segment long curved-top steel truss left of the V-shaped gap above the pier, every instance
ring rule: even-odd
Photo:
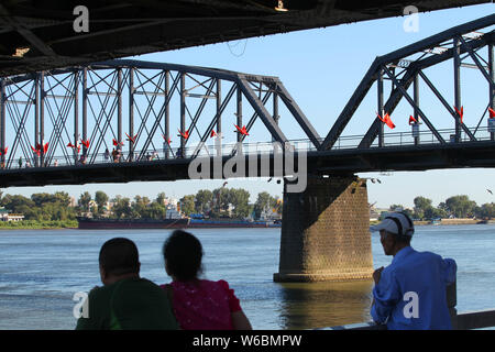
[[[52,166],[56,158],[56,163],[62,158],[64,165],[76,165],[80,155],[86,164],[94,164],[110,141],[118,150],[127,147],[122,160],[127,162],[143,160],[156,150],[163,151],[161,158],[186,157],[191,139],[175,136],[172,122],[179,125],[179,133],[189,131],[207,143],[212,132],[222,133],[222,114],[234,101],[235,124],[245,124],[248,133],[261,120],[273,141],[288,142],[278,125],[282,101],[312,147],[319,148],[321,140],[277,77],[123,59],[8,77],[0,80],[0,147],[9,148],[0,155],[4,168],[18,166],[19,158],[36,167]],[[189,105],[191,98],[200,101],[195,109]],[[212,116],[205,112],[211,99],[216,101]],[[243,101],[253,111],[248,122]],[[170,111],[173,108],[176,110]],[[200,119],[206,128],[199,125]],[[233,124],[229,128],[234,130]],[[8,130],[12,135],[6,135]],[[245,136],[238,133],[237,142],[244,142]],[[176,138],[180,139],[179,155],[169,143]],[[82,143],[87,141],[89,144]],[[166,142],[163,148],[157,141]],[[36,148],[45,144],[46,150]],[[187,156],[199,153],[199,147],[191,148]]]

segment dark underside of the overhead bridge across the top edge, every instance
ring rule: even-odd
[[[491,0],[9,0],[0,77]],[[85,10],[81,9],[85,8]],[[286,11],[284,11],[286,10]],[[86,18],[86,25],[81,20]]]

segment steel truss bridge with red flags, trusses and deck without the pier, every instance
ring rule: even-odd
[[[253,154],[268,155],[265,176],[275,175],[272,142],[296,158],[304,152],[308,173],[316,174],[494,167],[494,24],[495,15],[487,15],[376,57],[323,136],[277,77],[129,59],[3,77],[0,186],[188,179],[196,157],[226,163]],[[444,97],[425,73],[446,62],[452,62],[453,97]],[[463,122],[461,68],[477,70],[486,81],[488,101],[475,125]],[[452,128],[437,129],[425,113],[420,84]],[[364,135],[343,135],[369,95],[376,96],[380,117],[393,117],[407,101],[413,132],[385,133],[392,130],[372,112]],[[282,119],[297,124],[304,139],[283,131],[280,105]],[[268,138],[249,143],[260,141],[260,128]],[[211,146],[216,140],[221,148]],[[106,153],[113,148],[116,163]]]

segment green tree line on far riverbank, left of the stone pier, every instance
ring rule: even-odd
[[[277,197],[263,191],[254,204],[249,202],[250,193],[242,188],[201,189],[196,195],[187,195],[179,199],[178,208],[186,216],[201,213],[211,218],[230,217],[246,218],[254,215],[260,218],[264,209],[274,209],[282,213],[282,201]],[[177,205],[174,205],[177,206]],[[163,219],[166,215],[165,193],[155,199],[135,196],[117,196],[112,199],[101,190],[92,197],[88,191],[80,195],[74,205],[72,197],[64,191],[55,194],[40,193],[31,197],[22,195],[3,195],[0,191],[0,207],[13,213],[22,213],[24,227],[77,227],[77,216],[110,218],[151,218]],[[1,223],[1,222],[0,222]],[[4,227],[19,227],[20,223],[3,223]]]

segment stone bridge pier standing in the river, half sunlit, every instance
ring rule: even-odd
[[[371,278],[373,256],[366,180],[310,177],[302,193],[287,193],[275,282]]]

